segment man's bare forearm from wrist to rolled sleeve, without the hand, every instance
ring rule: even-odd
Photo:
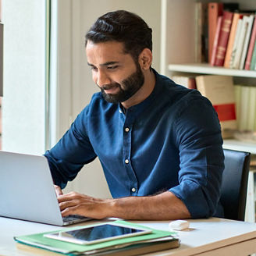
[[[190,218],[183,201],[169,191],[151,197],[117,198],[108,203],[108,217],[155,220]]]

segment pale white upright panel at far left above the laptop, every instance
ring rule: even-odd
[[[2,0],[2,149],[44,152],[45,3]]]

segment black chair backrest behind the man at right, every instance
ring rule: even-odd
[[[224,149],[224,155],[220,197],[224,218],[244,221],[250,153]]]

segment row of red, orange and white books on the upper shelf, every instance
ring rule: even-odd
[[[204,10],[204,22],[208,21],[208,30],[204,29],[204,38],[207,39],[203,42],[204,48],[208,49],[207,62],[229,69],[256,70],[255,12],[242,11],[238,4],[222,2],[197,3],[196,13],[200,15],[198,9]],[[196,16],[196,26],[203,27],[200,20]],[[197,29],[197,37],[200,33],[202,37],[202,30]],[[196,44],[197,48],[201,44]],[[197,49],[197,52],[207,54],[202,49]],[[197,62],[199,59],[197,56]]]

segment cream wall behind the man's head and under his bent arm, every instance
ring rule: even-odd
[[[87,105],[98,87],[91,80],[84,50],[84,35],[105,12],[126,9],[142,16],[153,29],[153,67],[159,70],[160,11],[158,0],[62,0],[58,18],[58,83],[56,140],[69,128],[76,115]],[[55,141],[52,141],[54,144]],[[66,190],[78,190],[95,197],[110,197],[98,161],[84,167]]]

